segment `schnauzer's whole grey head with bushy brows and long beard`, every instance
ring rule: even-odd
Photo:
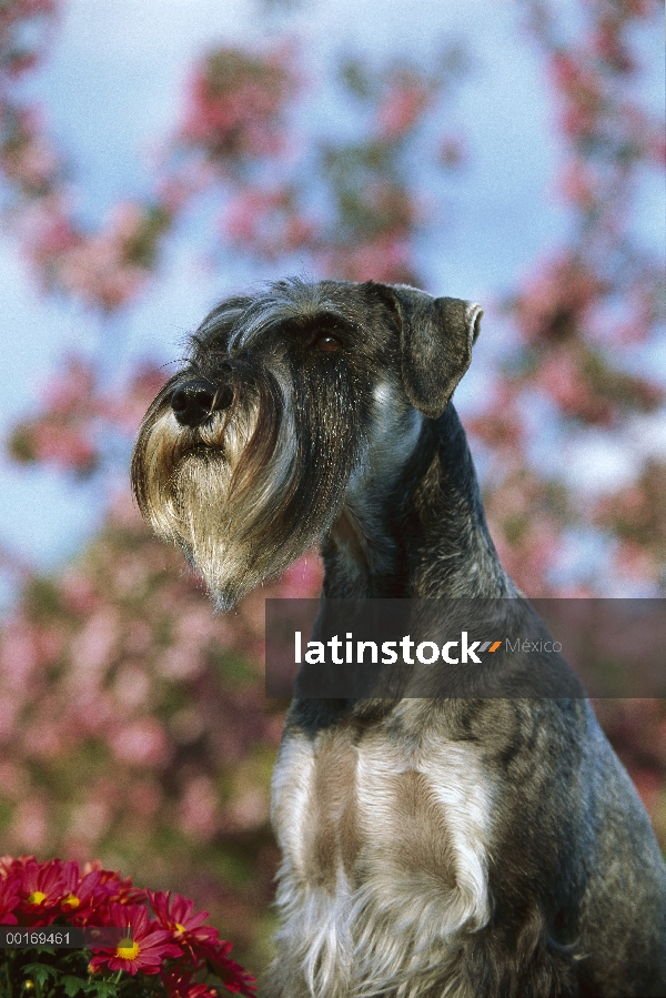
[[[222,302],[143,420],[144,518],[229,608],[325,534],[345,493],[397,473],[465,373],[480,315],[373,282]]]

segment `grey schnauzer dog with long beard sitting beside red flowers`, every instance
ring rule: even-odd
[[[315,541],[322,607],[525,602],[451,403],[480,317],[372,281],[223,302],[144,419],[143,516],[223,609]],[[272,820],[268,998],[666,995],[666,870],[583,696],[296,697]]]

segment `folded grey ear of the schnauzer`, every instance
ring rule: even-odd
[[[483,311],[457,298],[432,298],[406,284],[385,285],[401,323],[402,375],[412,405],[442,415],[470,366]]]

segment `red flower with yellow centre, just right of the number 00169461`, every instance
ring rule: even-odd
[[[139,970],[159,974],[164,959],[182,956],[181,949],[170,941],[172,934],[155,928],[155,923],[150,921],[148,911],[140,905],[110,905],[107,925],[130,926],[132,938],[122,940],[127,945],[121,942],[112,954],[94,956],[90,961],[92,971],[107,966],[110,970],[125,970],[132,976]]]

